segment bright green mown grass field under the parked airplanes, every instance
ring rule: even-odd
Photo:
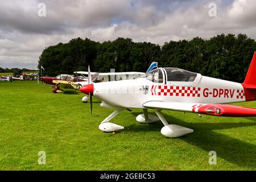
[[[256,118],[226,118],[164,111],[169,123],[194,133],[163,137],[161,122],[143,125],[142,111],[123,111],[112,122],[125,127],[103,133],[113,110],[94,98],[93,117],[82,93],[53,94],[36,81],[0,82],[1,170],[255,170]],[[256,107],[256,102],[237,105]],[[150,113],[153,114],[152,110]],[[209,151],[217,164],[208,163]],[[46,151],[46,165],[38,152]]]

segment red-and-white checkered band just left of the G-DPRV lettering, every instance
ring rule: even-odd
[[[200,97],[200,90],[200,87],[193,86],[153,85],[151,94],[153,96]]]

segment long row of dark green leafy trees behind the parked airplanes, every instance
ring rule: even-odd
[[[171,40],[162,47],[129,38],[103,43],[76,38],[45,48],[38,68],[42,65],[44,75],[48,76],[87,71],[88,65],[93,72],[110,72],[110,68],[115,68],[115,72],[146,72],[151,62],[157,61],[159,67],[182,68],[204,76],[243,82],[254,51],[255,40],[245,34]]]

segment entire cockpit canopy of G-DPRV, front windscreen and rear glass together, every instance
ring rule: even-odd
[[[162,83],[164,78],[166,81],[180,81],[180,82],[193,82],[195,81],[197,73],[189,72],[179,68],[157,68],[142,75],[139,78],[146,78],[152,82]]]

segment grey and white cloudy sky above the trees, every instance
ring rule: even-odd
[[[0,0],[0,5],[2,68],[36,68],[45,47],[79,36],[160,45],[221,33],[256,39],[255,0]]]

